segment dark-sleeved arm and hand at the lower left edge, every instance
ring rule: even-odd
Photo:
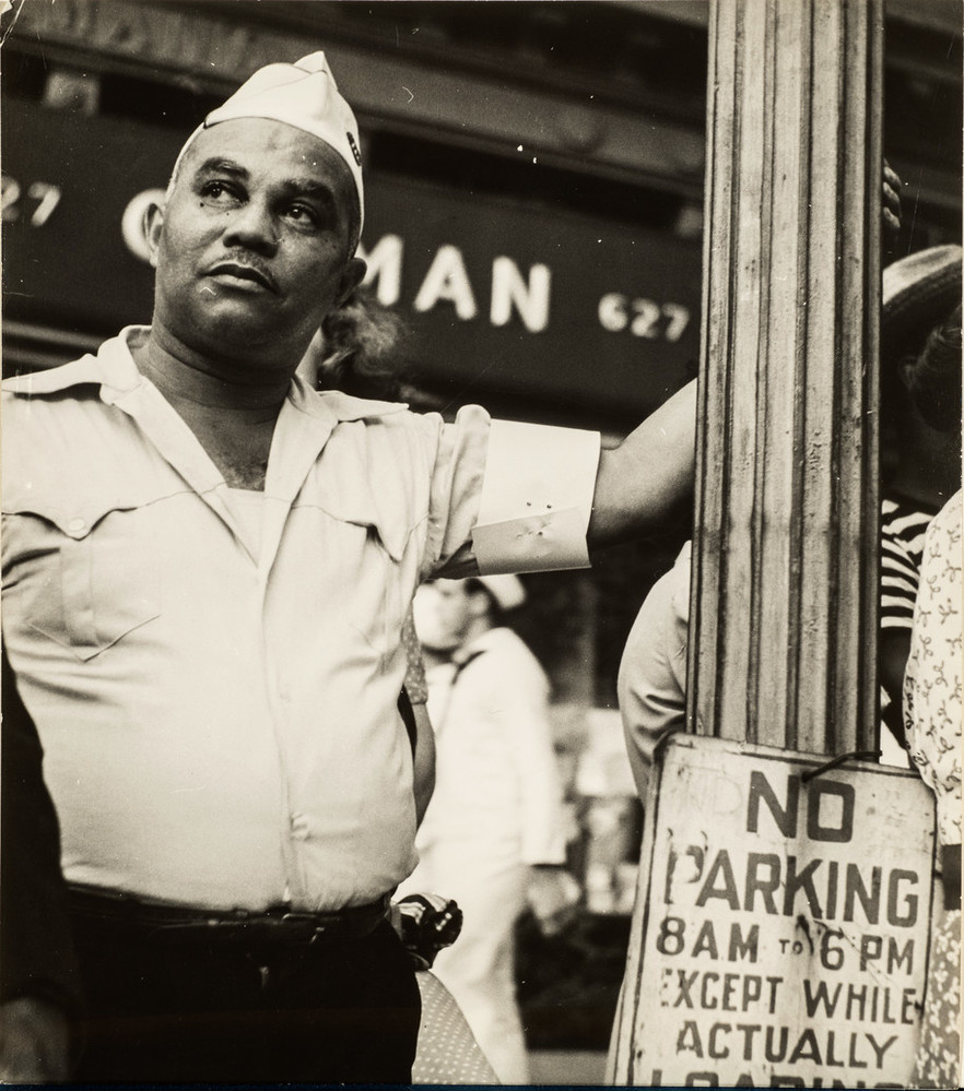
[[[70,1019],[80,1003],[60,828],[5,651],[0,687],[0,1082],[58,1082],[70,1074]]]

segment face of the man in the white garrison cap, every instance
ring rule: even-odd
[[[155,324],[213,358],[293,368],[364,274],[354,201],[346,165],[301,129],[244,118],[199,133],[149,214]]]

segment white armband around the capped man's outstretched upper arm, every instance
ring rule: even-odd
[[[472,544],[479,571],[588,568],[599,434],[493,420]]]

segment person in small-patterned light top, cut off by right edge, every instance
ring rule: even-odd
[[[943,905],[931,918],[920,1044],[908,1087],[961,1087],[961,491],[927,529],[904,677],[910,759],[934,794]]]

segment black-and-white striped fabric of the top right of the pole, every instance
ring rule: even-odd
[[[881,603],[882,629],[909,629],[920,578],[924,534],[937,509],[896,494],[881,505]]]

